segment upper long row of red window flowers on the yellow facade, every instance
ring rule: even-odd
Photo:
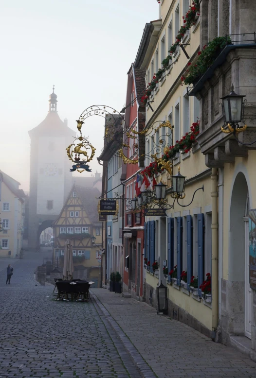
[[[188,12],[185,16],[183,16],[183,26],[180,28],[178,34],[176,35],[176,41],[172,44],[169,49],[169,54],[162,62],[162,69],[158,69],[158,71],[153,75],[153,79],[151,83],[148,83],[146,87],[145,94],[142,96],[141,101],[146,105],[149,96],[151,95],[152,91],[156,87],[157,83],[159,82],[160,78],[162,77],[163,73],[169,67],[169,61],[172,59],[171,55],[174,54],[177,50],[177,47],[180,46],[181,40],[185,35],[186,31],[191,28],[191,26],[195,25],[196,23],[196,15],[200,15],[200,0],[193,0],[192,5],[190,5]]]

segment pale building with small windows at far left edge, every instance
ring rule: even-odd
[[[0,213],[3,230],[0,232],[0,256],[15,258],[20,254],[24,232],[24,191],[20,183],[0,171]]]

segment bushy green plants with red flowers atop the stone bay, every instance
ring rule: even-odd
[[[182,85],[194,84],[199,76],[204,74],[207,69],[213,64],[216,56],[219,55],[219,50],[223,49],[225,45],[229,45],[231,38],[229,36],[217,37],[208,43],[208,46],[204,45],[202,51],[198,52],[199,58],[196,64],[192,65],[188,62],[188,69],[186,73],[181,77]]]

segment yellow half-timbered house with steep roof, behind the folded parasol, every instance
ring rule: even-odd
[[[100,192],[96,188],[74,184],[52,225],[54,255],[58,266],[63,266],[65,242],[70,239],[73,246],[74,278],[90,278],[96,287],[100,282],[98,254],[102,245],[102,223],[98,221],[96,199],[99,196]]]

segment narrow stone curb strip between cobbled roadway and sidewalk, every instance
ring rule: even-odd
[[[154,373],[152,368],[146,363],[144,358],[141,356],[141,354],[138,352],[136,347],[131,343],[128,336],[125,334],[125,332],[122,330],[122,328],[118,325],[118,323],[113,319],[110,312],[103,306],[103,304],[100,302],[99,298],[96,294],[91,292],[91,297],[101,310],[101,312],[104,314],[108,322],[110,323],[111,327],[114,329],[114,331],[119,336],[122,344],[127,349],[128,353],[130,354],[132,360],[134,361],[135,365],[138,367],[141,375],[143,378],[156,378],[157,375]],[[132,376],[131,376],[132,377]]]

